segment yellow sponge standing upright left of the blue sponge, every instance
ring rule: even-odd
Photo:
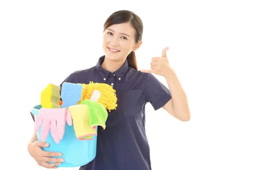
[[[60,101],[60,90],[59,85],[53,85],[49,83],[47,87],[41,92],[41,105],[42,108],[61,108]]]

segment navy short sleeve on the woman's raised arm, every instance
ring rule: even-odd
[[[162,108],[172,95],[168,88],[161,83],[153,74],[147,73],[145,76],[145,100],[150,102],[154,110]]]

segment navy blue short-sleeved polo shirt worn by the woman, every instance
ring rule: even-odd
[[[105,130],[98,130],[96,157],[80,170],[151,170],[145,105],[151,103],[154,110],[163,107],[172,98],[170,91],[153,74],[130,68],[127,60],[114,73],[106,71],[101,66],[104,58],[100,57],[96,66],[75,71],[64,80],[106,83],[116,90],[117,108],[108,111]]]

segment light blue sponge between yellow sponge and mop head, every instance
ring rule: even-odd
[[[68,108],[72,105],[77,105],[83,100],[84,86],[81,84],[64,82],[62,84],[61,108]]]

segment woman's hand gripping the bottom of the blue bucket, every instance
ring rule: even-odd
[[[56,169],[56,165],[60,165],[64,161],[62,158],[52,158],[50,156],[61,156],[61,153],[57,152],[47,152],[42,149],[42,147],[49,147],[49,144],[46,142],[35,141],[28,144],[29,154],[35,159],[41,167]],[[53,163],[49,163],[53,162]]]

